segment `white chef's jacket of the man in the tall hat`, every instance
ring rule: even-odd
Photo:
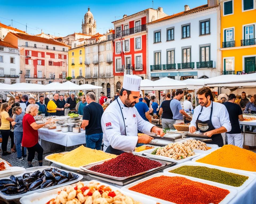
[[[123,117],[117,100],[122,109]],[[106,148],[111,145],[114,149],[132,152],[138,142],[138,130],[142,133],[150,134],[150,130],[154,125],[145,121],[135,107],[126,107],[120,97],[117,100],[114,100],[106,108],[101,117],[104,141],[103,150],[106,151]]]

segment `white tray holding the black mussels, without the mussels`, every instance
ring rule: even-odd
[[[44,167],[41,167],[41,168],[38,168],[38,167],[27,168],[26,171],[23,172],[23,173],[35,172],[37,170],[42,171],[43,169],[48,168],[48,167],[50,167],[50,166],[44,166]],[[63,171],[63,169],[59,169],[59,170]],[[66,170],[64,170],[64,171],[65,172],[69,172],[69,171],[66,171]],[[16,177],[17,176],[22,176],[23,173],[15,175],[15,176]],[[71,172],[71,173],[73,173],[73,172]],[[66,186],[66,185],[69,185],[69,184],[73,184],[73,183],[76,183],[76,182],[80,181],[83,178],[82,175],[80,175],[78,173],[75,173],[75,174],[78,175],[78,179],[73,180],[73,181],[68,181],[68,182],[63,183],[63,184],[59,184],[59,185],[55,185],[55,186],[50,186],[48,188],[31,190],[31,191],[27,191],[26,193],[21,193],[21,194],[17,194],[17,195],[6,195],[6,194],[3,194],[2,192],[0,192],[0,197],[2,197],[3,199],[6,199],[6,200],[14,200],[14,199],[21,198],[23,196],[34,194],[34,193],[37,193],[37,192],[43,192],[43,191],[51,190],[51,189],[58,188],[58,187],[61,187],[61,186]],[[3,177],[1,179],[10,179],[10,178],[9,177]]]

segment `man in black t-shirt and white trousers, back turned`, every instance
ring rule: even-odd
[[[235,104],[236,96],[235,94],[229,95],[229,100],[224,103],[229,112],[229,120],[231,123],[231,131],[227,132],[227,143],[229,145],[235,145],[243,148],[243,137],[241,133],[241,128],[239,121],[243,121],[243,112],[239,105]]]

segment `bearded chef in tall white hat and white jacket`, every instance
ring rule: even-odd
[[[124,75],[120,96],[105,110],[101,118],[103,131],[103,150],[120,155],[132,152],[139,143],[148,144],[152,137],[146,135],[154,132],[163,136],[163,130],[143,120],[134,107],[139,102],[141,77]],[[143,135],[138,136],[138,130]]]

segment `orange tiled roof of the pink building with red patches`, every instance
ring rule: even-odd
[[[47,43],[47,44],[70,47],[69,45],[66,45],[64,43],[57,42],[53,39],[47,39],[44,37],[38,37],[38,36],[28,35],[28,34],[23,34],[23,33],[11,33],[11,34],[18,37],[19,39],[22,39],[22,40],[30,40],[30,41],[35,41],[35,42],[39,42],[39,43]]]

